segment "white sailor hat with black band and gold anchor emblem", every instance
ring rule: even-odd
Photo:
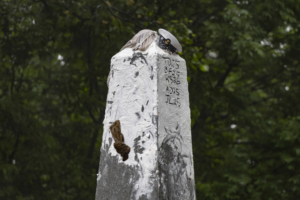
[[[163,50],[173,54],[175,52],[182,52],[182,47],[178,40],[168,31],[160,28],[158,32],[161,37],[158,37],[157,44]]]

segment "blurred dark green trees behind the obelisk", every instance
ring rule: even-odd
[[[197,199],[300,199],[299,0],[1,0],[0,199],[94,199],[111,57],[183,46]]]

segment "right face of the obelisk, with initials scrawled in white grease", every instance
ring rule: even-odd
[[[158,54],[157,66],[159,199],[196,199],[186,64]]]

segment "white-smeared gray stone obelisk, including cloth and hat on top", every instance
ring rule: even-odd
[[[111,59],[96,200],[196,199],[186,63],[159,33],[142,30]],[[114,147],[117,120],[128,159]]]

